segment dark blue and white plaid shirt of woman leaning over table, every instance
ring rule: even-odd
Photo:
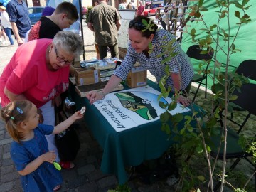
[[[164,71],[165,65],[161,63],[163,59],[158,56],[164,52],[161,46],[166,45],[166,42],[169,42],[174,38],[176,39],[176,37],[171,35],[168,31],[162,29],[156,31],[152,41],[154,50],[149,55],[149,58],[147,58],[144,53],[136,53],[134,48],[132,48],[131,43],[129,43],[127,55],[125,55],[122,65],[114,71],[114,75],[125,80],[133,65],[139,60],[140,65],[149,70],[159,82],[159,80],[166,75]],[[166,65],[169,65],[171,73],[181,73],[181,90],[185,90],[193,78],[193,66],[178,42],[175,42],[173,45],[176,47],[174,48],[174,52],[178,53],[178,55],[166,62]],[[167,58],[168,56],[169,54],[166,54],[164,55],[164,58]],[[174,82],[171,80],[171,77],[167,78],[166,83],[172,87],[172,90],[174,90]]]

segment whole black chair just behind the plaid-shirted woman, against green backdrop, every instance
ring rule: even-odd
[[[198,45],[193,45],[190,46],[186,52],[186,54],[188,55],[188,57],[196,59],[196,60],[205,60],[206,61],[206,67],[202,70],[202,73],[198,74],[198,73],[194,73],[193,75],[193,79],[192,82],[197,82],[199,83],[198,88],[196,90],[196,92],[191,92],[194,94],[193,100],[192,102],[195,101],[196,99],[196,95],[198,94],[198,90],[200,88],[200,86],[203,84],[206,86],[206,90],[205,90],[205,98],[207,95],[207,76],[208,76],[208,67],[210,65],[210,61],[213,58],[213,51],[210,51],[209,53],[204,53],[201,54],[201,48]],[[203,82],[203,80],[205,80],[205,82]]]

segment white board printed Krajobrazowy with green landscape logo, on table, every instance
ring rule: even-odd
[[[94,103],[95,107],[107,119],[116,132],[137,127],[158,120],[165,112],[159,107],[157,97],[160,92],[152,87],[137,87],[107,94],[104,100]],[[161,98],[166,103],[171,98]],[[190,109],[178,104],[171,114],[188,112]]]

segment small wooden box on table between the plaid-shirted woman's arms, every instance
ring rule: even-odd
[[[134,66],[128,73],[126,84],[131,88],[145,86],[146,69],[142,66]]]

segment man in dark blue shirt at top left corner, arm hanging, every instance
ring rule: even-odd
[[[24,43],[26,32],[31,29],[28,6],[22,0],[11,0],[6,5],[6,12],[9,14],[11,28],[18,46],[21,46]]]

